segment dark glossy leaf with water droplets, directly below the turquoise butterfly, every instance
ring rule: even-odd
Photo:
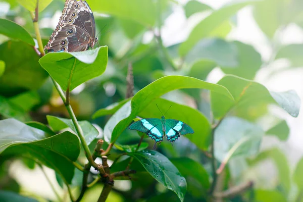
[[[151,176],[184,200],[186,180],[164,155],[155,150],[144,150],[129,156],[136,158]]]

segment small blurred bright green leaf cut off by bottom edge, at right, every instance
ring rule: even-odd
[[[258,202],[286,202],[283,194],[274,190],[257,189],[255,192],[255,200]]]

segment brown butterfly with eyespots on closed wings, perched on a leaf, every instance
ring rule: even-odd
[[[44,50],[49,52],[86,51],[97,42],[95,21],[84,0],[66,0],[60,21]]]

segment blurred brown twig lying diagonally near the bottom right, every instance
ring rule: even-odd
[[[216,198],[232,198],[236,195],[239,195],[248,189],[251,189],[254,186],[254,182],[248,181],[246,183],[240,184],[238,186],[231,187],[222,192],[215,192],[213,195]]]

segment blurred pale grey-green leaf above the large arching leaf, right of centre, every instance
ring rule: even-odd
[[[237,46],[217,38],[200,40],[193,46],[185,61],[194,63],[199,60],[214,61],[218,66],[237,67]]]

